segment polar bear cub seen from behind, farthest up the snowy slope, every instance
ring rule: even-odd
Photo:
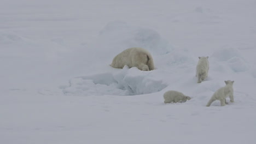
[[[197,76],[197,83],[202,82],[203,80],[208,77],[209,71],[209,62],[208,56],[207,57],[198,57],[199,61],[196,65],[196,76]]]

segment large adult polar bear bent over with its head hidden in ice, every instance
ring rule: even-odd
[[[113,68],[124,68],[127,65],[129,68],[137,67],[140,70],[153,70],[154,62],[150,53],[141,47],[132,47],[124,50],[114,57],[112,64]]]

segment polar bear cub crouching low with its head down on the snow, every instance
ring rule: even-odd
[[[191,98],[177,91],[167,91],[164,94],[164,103],[185,103]]]

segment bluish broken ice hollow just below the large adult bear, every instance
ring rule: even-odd
[[[152,71],[141,71],[136,67],[92,76],[75,77],[63,87],[67,95],[138,95],[159,92],[167,85],[160,79],[150,77]]]

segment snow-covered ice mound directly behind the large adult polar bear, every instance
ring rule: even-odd
[[[172,49],[171,45],[153,29],[129,26],[123,21],[109,22],[92,47],[101,51],[117,51],[115,54],[130,47],[143,47],[154,55],[163,55]]]

